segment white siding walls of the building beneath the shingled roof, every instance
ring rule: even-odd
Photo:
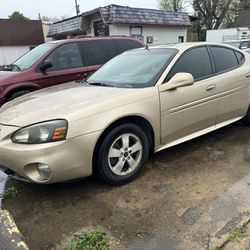
[[[109,25],[110,35],[130,35],[131,25],[113,24]],[[166,43],[178,43],[179,36],[184,38],[184,42],[187,41],[187,28],[186,27],[162,27],[155,25],[143,25],[142,36],[144,42],[147,41],[147,37],[153,37],[153,44],[166,44]]]

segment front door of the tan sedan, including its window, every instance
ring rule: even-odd
[[[192,139],[216,124],[217,82],[211,77],[213,69],[207,48],[201,46],[184,52],[166,82],[180,72],[191,73],[195,83],[160,93],[161,139],[162,144],[169,146]]]

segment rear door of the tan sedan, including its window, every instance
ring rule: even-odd
[[[230,122],[245,115],[249,105],[250,69],[244,66],[245,57],[238,51],[210,46],[215,65],[215,94],[218,98],[217,124]]]

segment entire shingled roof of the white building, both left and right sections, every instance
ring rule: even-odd
[[[145,8],[131,8],[111,4],[96,8],[69,19],[55,22],[50,26],[48,37],[55,35],[82,34],[82,22],[88,22],[88,17],[100,14],[106,24],[130,25],[161,25],[161,26],[190,26],[191,22],[187,13],[171,12]]]

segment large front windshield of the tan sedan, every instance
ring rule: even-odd
[[[124,88],[154,86],[177,52],[158,48],[130,50],[107,62],[87,82]]]

